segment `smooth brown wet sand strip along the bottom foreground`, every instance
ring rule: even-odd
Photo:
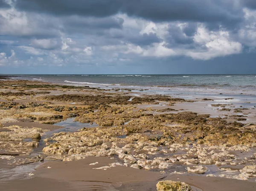
[[[91,163],[99,162],[96,165]],[[87,157],[71,162],[45,162],[31,179],[1,182],[1,191],[156,191],[160,180],[186,182],[197,191],[255,191],[256,182],[220,177],[160,174],[125,166],[99,168],[117,162],[106,157]]]

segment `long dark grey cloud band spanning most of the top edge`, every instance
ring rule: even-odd
[[[240,21],[242,10],[227,0],[18,0],[16,7],[60,15],[107,17],[118,12],[161,22],[172,20]]]

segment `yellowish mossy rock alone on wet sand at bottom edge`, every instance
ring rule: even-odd
[[[185,182],[165,180],[157,183],[157,191],[192,191],[192,188]]]

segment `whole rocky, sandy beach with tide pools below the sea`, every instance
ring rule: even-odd
[[[256,189],[248,95],[0,85],[0,191],[156,191],[164,180],[195,191]]]

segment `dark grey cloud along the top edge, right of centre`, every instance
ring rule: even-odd
[[[122,11],[153,21],[239,21],[241,14],[221,0],[130,0]]]

